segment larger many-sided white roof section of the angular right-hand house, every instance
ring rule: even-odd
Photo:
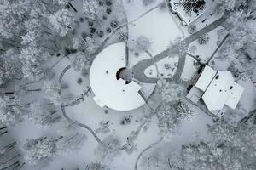
[[[224,105],[235,109],[242,92],[243,88],[234,82],[230,71],[218,71],[202,99],[209,111],[221,110]]]

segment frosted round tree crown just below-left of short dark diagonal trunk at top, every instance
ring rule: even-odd
[[[49,23],[61,37],[64,37],[73,29],[74,18],[67,9],[61,9],[49,15]]]

